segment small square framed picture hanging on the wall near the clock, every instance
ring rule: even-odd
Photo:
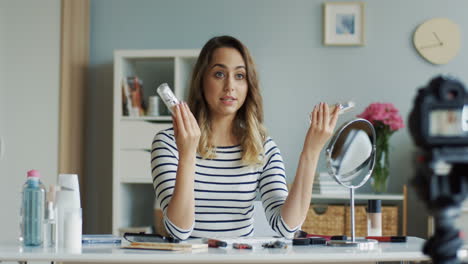
[[[326,2],[323,5],[323,44],[363,46],[364,2]]]

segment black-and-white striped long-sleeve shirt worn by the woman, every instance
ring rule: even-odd
[[[281,217],[288,190],[283,160],[271,138],[264,142],[260,166],[241,162],[240,145],[217,147],[213,159],[196,158],[195,222],[182,229],[167,217],[174,191],[179,154],[172,128],[154,137],[151,168],[156,203],[163,211],[166,230],[175,238],[241,237],[254,235],[253,201],[259,191],[266,218],[279,235],[292,238],[298,227],[290,228]]]

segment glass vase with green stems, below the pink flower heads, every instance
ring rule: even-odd
[[[385,193],[390,174],[388,136],[377,136],[374,171],[371,177],[371,187],[375,193]]]

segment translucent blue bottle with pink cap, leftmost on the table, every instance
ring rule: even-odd
[[[40,246],[43,241],[45,188],[36,170],[28,171],[23,185],[21,235],[24,246]]]

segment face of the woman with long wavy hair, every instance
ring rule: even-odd
[[[247,71],[234,48],[218,48],[203,76],[203,92],[212,117],[235,115],[247,96]]]

